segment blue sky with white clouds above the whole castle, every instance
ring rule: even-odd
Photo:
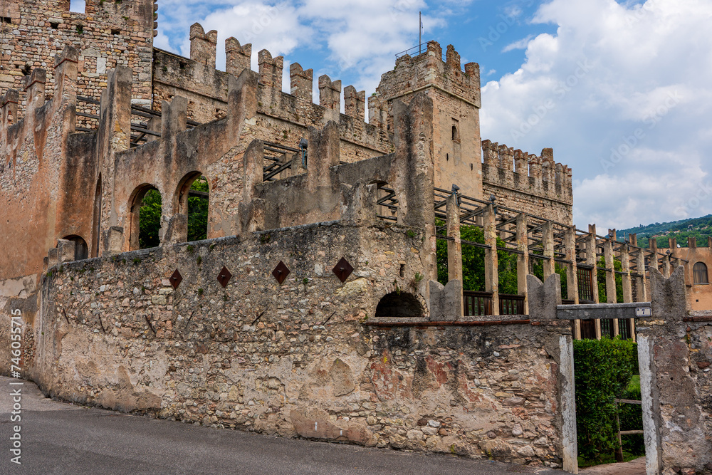
[[[481,68],[483,139],[573,169],[574,222],[624,229],[712,212],[712,1],[158,1],[155,46],[218,31],[370,95],[395,53],[453,44]],[[315,94],[318,98],[318,94]],[[317,99],[318,100],[318,99]]]

